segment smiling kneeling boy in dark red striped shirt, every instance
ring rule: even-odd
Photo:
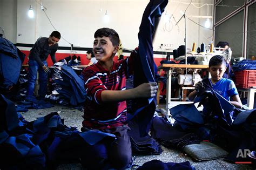
[[[87,99],[84,104],[82,131],[100,130],[116,135],[117,139],[107,147],[107,157],[113,168],[125,168],[132,158],[125,100],[154,97],[158,86],[155,82],[144,83],[126,90],[125,80],[132,73],[136,52],[125,60],[114,62],[113,57],[120,41],[118,33],[113,29],[102,28],[95,32],[94,37],[93,53],[98,63],[83,71]],[[95,154],[96,151],[93,156]],[[86,164],[97,162],[92,158]]]

